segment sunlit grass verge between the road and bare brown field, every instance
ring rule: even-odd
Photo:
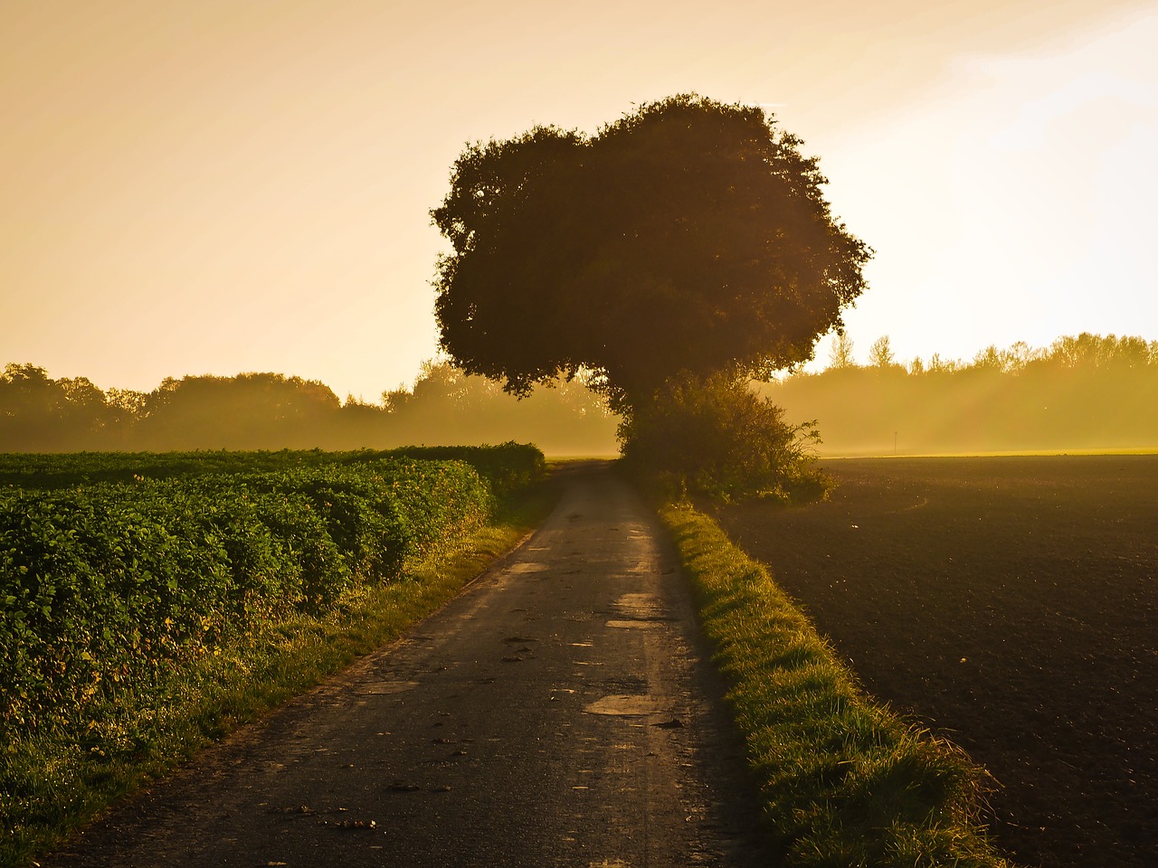
[[[784,863],[1010,868],[981,827],[984,770],[873,703],[768,569],[709,516],[674,506],[661,516]]]

